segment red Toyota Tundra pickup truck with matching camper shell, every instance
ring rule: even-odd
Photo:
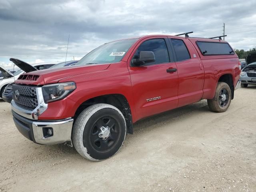
[[[74,66],[22,74],[13,85],[12,114],[33,142],[69,142],[83,157],[100,161],[120,149],[142,118],[202,99],[210,110],[226,111],[240,87],[240,71],[238,56],[223,40],[118,40]]]

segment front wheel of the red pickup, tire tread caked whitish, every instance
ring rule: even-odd
[[[94,104],[76,119],[72,141],[81,156],[102,161],[118,152],[125,135],[126,122],[122,112],[109,104]]]

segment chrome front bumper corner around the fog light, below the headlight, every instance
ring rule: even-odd
[[[71,141],[71,132],[74,119],[66,118],[57,122],[32,122],[32,128],[36,143],[43,145],[61,144]],[[53,135],[44,138],[43,128],[52,128]]]

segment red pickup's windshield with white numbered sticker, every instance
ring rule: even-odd
[[[137,39],[126,39],[106,43],[89,52],[76,65],[117,63],[122,60]]]

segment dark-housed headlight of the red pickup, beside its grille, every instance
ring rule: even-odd
[[[42,86],[44,102],[49,103],[61,100],[76,89],[74,82],[56,83]]]

